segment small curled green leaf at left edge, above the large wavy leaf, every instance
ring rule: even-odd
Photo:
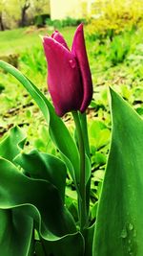
[[[7,137],[0,143],[0,156],[10,161],[23,149],[25,135],[20,128],[10,128]]]

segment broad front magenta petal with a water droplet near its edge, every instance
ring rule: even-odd
[[[58,116],[80,108],[83,88],[76,58],[67,48],[50,36],[44,36],[48,61],[48,84]]]

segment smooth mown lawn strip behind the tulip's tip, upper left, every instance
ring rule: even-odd
[[[60,32],[66,35],[69,45],[72,43],[72,35],[75,28],[63,28]],[[33,27],[24,29],[15,29],[0,32],[0,57],[10,54],[18,54],[33,46],[41,46],[39,35],[51,35],[53,30],[34,29]]]

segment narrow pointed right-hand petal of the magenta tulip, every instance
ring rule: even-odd
[[[83,24],[77,27],[72,42],[72,54],[77,58],[83,84],[83,101],[80,111],[84,112],[92,101],[92,75],[86,52]]]

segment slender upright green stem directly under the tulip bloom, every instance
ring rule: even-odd
[[[82,232],[86,224],[87,213],[86,213],[86,170],[85,170],[85,145],[83,132],[80,124],[78,112],[73,111],[72,116],[75,123],[75,128],[78,138],[78,147],[80,155],[80,179],[79,179],[79,192],[78,203],[79,203],[79,221],[80,231]]]

